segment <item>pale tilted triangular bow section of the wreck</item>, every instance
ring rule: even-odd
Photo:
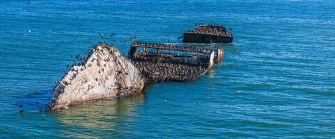
[[[98,44],[83,65],[72,67],[56,86],[50,109],[132,95],[141,92],[144,85],[139,70],[120,51],[107,44]]]

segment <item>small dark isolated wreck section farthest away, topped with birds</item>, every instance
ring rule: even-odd
[[[230,43],[233,34],[226,27],[217,24],[201,24],[197,28],[185,31],[182,42],[185,43]]]

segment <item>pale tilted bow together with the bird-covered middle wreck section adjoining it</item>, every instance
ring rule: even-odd
[[[148,83],[194,82],[223,54],[222,48],[134,42],[129,55],[123,56],[115,47],[100,43],[57,82],[49,109],[136,94]]]

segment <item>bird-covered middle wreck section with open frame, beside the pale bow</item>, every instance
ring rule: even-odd
[[[172,44],[134,42],[129,57],[148,82],[193,82],[210,70],[214,51]]]

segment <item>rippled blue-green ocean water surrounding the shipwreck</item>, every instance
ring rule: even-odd
[[[334,138],[334,7],[332,0],[0,1],[0,137]],[[180,42],[199,23],[224,24],[235,40],[197,82],[39,111],[71,56],[98,41],[127,54],[134,36]]]

